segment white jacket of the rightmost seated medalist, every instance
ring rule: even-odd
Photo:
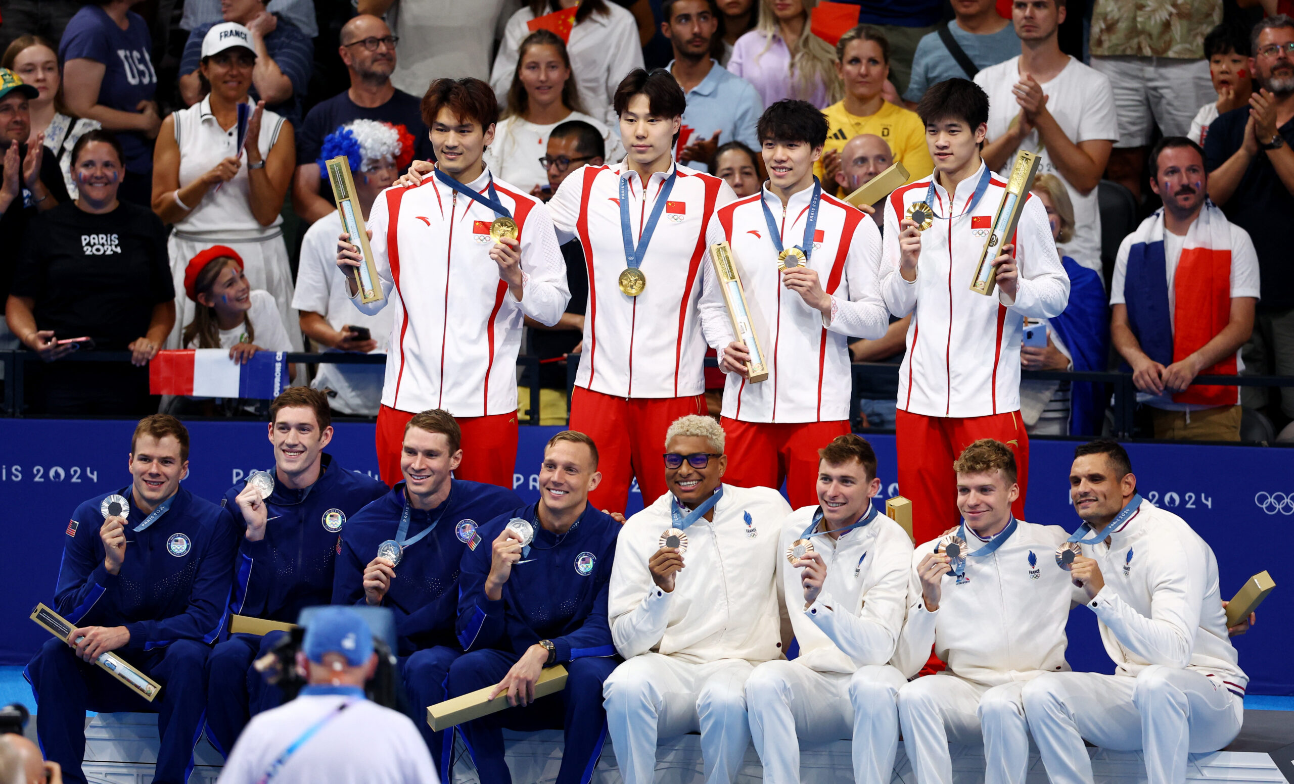
[[[1212,549],[1149,501],[1108,533],[1109,545],[1083,545],[1083,552],[1105,580],[1087,605],[1100,618],[1115,674],[1136,675],[1152,664],[1184,668],[1244,697],[1249,677],[1227,635]]]

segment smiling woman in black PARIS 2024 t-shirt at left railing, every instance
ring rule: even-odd
[[[94,129],[72,147],[79,195],[30,226],[5,317],[47,362],[38,371],[47,414],[146,414],[148,362],[175,323],[175,287],[158,216],[118,198],[120,142]],[[129,351],[132,365],[56,362],[98,348]]]

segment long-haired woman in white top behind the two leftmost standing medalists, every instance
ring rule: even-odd
[[[507,91],[503,119],[494,127],[494,144],[485,150],[485,164],[499,179],[536,198],[549,182],[540,158],[547,154],[549,135],[560,123],[584,120],[602,133],[608,150],[619,147],[619,137],[600,120],[584,113],[584,103],[571,78],[567,47],[550,30],[536,30],[521,41],[516,72]],[[611,160],[619,160],[615,155]]]

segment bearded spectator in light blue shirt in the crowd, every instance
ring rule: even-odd
[[[740,141],[757,149],[754,123],[763,111],[760,93],[710,57],[718,5],[714,0],[665,0],[660,13],[660,31],[674,48],[674,60],[665,67],[687,94],[675,146],[678,162],[704,172],[721,144]]]

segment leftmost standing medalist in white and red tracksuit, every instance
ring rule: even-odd
[[[361,303],[360,251],[338,239],[336,263],[355,307],[392,310],[391,354],[378,411],[382,480],[400,480],[404,427],[417,411],[448,410],[466,440],[492,444],[463,458],[459,479],[512,486],[516,463],[516,353],[521,318],[562,317],[571,292],[549,210],[496,180],[481,159],[494,141],[498,103],[480,79],[437,79],[422,100],[436,151],[419,188],[391,188],[369,213],[383,299]],[[494,238],[509,219],[515,238]]]

